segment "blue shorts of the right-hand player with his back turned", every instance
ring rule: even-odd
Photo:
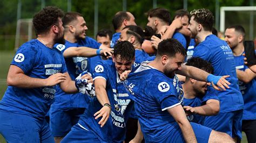
[[[242,138],[242,111],[237,110],[205,117],[204,126],[229,134],[232,138]]]

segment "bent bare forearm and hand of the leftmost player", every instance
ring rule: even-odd
[[[53,74],[46,79],[29,77],[21,68],[11,65],[7,76],[7,85],[18,88],[39,88],[54,86],[65,80],[66,75],[62,73]]]

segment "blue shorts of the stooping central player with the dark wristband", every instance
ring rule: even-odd
[[[78,124],[61,141],[64,142],[101,142],[92,132],[82,128]]]

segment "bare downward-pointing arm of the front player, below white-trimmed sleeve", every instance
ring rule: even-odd
[[[193,128],[191,127],[189,121],[187,120],[187,117],[185,115],[185,112],[184,112],[182,106],[181,105],[174,106],[173,108],[167,109],[167,111],[178,123],[185,141],[186,142],[197,142]]]

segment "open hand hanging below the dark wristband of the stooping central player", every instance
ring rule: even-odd
[[[109,119],[111,109],[108,106],[103,106],[102,109],[100,109],[98,112],[96,112],[93,116],[96,116],[95,119],[98,119],[99,117],[102,117],[102,119],[99,121],[100,127],[103,127]]]

